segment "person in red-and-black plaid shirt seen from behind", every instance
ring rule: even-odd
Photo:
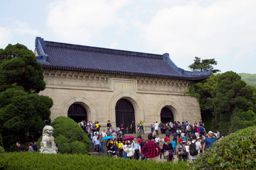
[[[146,159],[155,161],[156,157],[159,156],[161,149],[159,145],[157,145],[155,142],[152,141],[153,137],[152,135],[149,135],[149,142],[147,142],[144,147],[142,147],[142,154],[146,157]]]

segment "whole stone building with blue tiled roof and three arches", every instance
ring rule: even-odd
[[[196,98],[186,95],[193,81],[210,72],[178,68],[169,54],[88,47],[36,38],[36,58],[43,64],[46,89],[53,98],[51,118],[97,120],[102,127],[144,120],[193,122],[201,118]]]

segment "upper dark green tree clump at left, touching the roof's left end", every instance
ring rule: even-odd
[[[8,45],[0,50],[0,91],[11,86],[23,86],[25,91],[42,91],[46,88],[43,81],[42,65],[36,56],[24,45]]]

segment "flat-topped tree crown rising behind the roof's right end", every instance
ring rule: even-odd
[[[188,67],[192,69],[193,71],[210,71],[213,73],[220,72],[218,69],[213,69],[213,65],[217,65],[217,62],[215,59],[206,59],[201,60],[199,57],[195,57],[194,63],[190,64]]]

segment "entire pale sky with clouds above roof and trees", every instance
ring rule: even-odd
[[[36,37],[93,47],[169,53],[182,69],[214,58],[221,72],[256,74],[255,0],[1,1],[0,48]]]

